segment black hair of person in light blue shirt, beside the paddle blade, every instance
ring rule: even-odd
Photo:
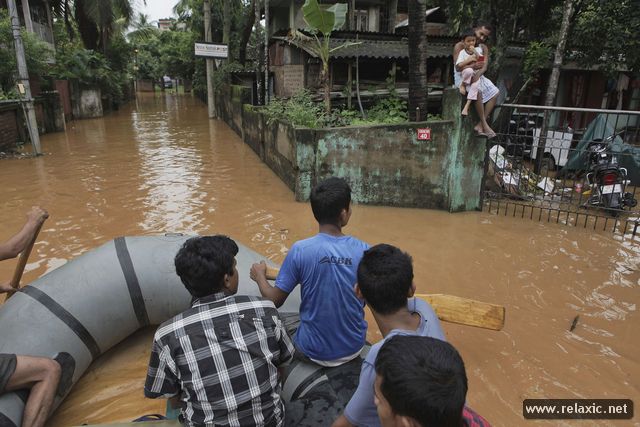
[[[358,265],[358,287],[372,310],[391,314],[406,307],[412,283],[409,254],[385,243],[364,252]]]

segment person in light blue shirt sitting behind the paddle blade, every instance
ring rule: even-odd
[[[384,339],[371,347],[362,363],[358,388],[333,427],[380,426],[374,403],[375,362],[387,339],[420,335],[445,340],[435,312],[425,301],[412,298],[414,292],[413,265],[407,253],[387,244],[364,253],[356,293],[369,305]]]

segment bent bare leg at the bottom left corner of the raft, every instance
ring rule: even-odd
[[[42,427],[47,421],[60,381],[58,362],[45,357],[17,356],[16,370],[7,390],[30,388],[24,407],[22,427]]]

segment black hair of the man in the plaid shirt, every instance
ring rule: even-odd
[[[174,260],[176,273],[195,298],[219,292],[224,275],[233,276],[238,245],[227,236],[193,237],[182,245]]]

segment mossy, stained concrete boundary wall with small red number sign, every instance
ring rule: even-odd
[[[298,201],[329,176],[345,178],[356,203],[449,212],[481,208],[485,139],[462,119],[462,98],[445,93],[443,119],[400,125],[308,129],[267,123],[246,104],[251,89],[230,86],[216,96],[218,117],[291,188]],[[418,140],[417,130],[431,129]]]

